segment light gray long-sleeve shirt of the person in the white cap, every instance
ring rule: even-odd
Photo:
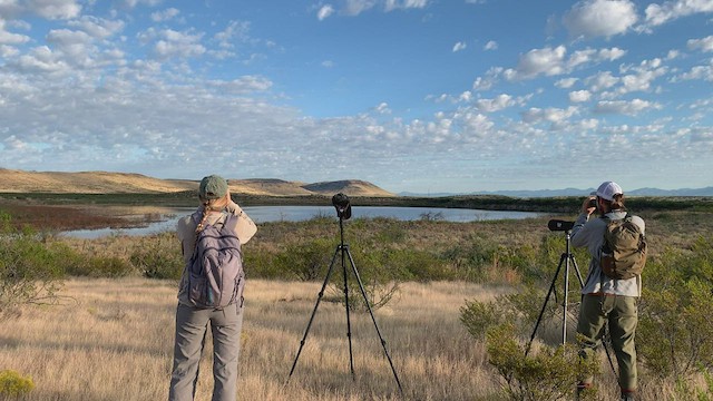
[[[621,219],[626,216],[624,211],[613,211],[606,214],[611,219]],[[645,229],[644,219],[632,216],[632,222]],[[604,233],[607,222],[604,218],[592,218],[586,213],[579,214],[572,228],[572,245],[575,247],[586,246],[592,255],[589,262],[589,274],[582,288],[583,294],[604,293],[612,295],[641,296],[642,277],[635,276],[627,280],[615,280],[602,272],[599,260],[602,257],[602,245],[604,244]]]

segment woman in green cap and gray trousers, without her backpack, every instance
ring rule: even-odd
[[[243,209],[231,199],[227,180],[217,175],[204,177],[198,187],[201,206],[178,221],[177,234],[186,268],[184,268],[176,310],[174,362],[170,375],[169,401],[189,401],[195,397],[198,364],[205,345],[208,323],[213,335],[213,401],[235,401],[237,394],[237,359],[243,325],[242,293],[225,307],[197,307],[188,291],[188,268],[196,246],[197,234],[206,226],[222,226],[228,214],[237,216],[235,234],[241,244],[247,243],[257,227]]]

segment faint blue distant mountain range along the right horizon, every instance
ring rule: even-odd
[[[473,193],[440,193],[440,194],[416,194],[399,193],[400,196],[455,196],[455,195],[501,195],[518,198],[535,197],[561,197],[561,196],[585,196],[594,192],[595,188],[577,189],[541,189],[541,190],[494,190],[494,192],[473,192]],[[683,189],[658,189],[658,188],[639,188],[625,192],[626,196],[713,196],[713,187],[705,188],[683,188]]]

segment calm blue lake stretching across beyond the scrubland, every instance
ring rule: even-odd
[[[338,222],[333,206],[246,206],[243,208],[255,223],[301,222],[314,217],[333,217]],[[149,235],[173,231],[176,222],[195,211],[195,207],[170,208],[162,212],[159,222],[145,227],[76,229],[62,232],[61,235],[78,238],[98,238],[106,235]],[[519,219],[538,217],[536,212],[481,211],[441,207],[391,207],[391,206],[353,206],[352,218],[389,217],[400,221],[438,219],[455,223],[484,222],[494,219]]]

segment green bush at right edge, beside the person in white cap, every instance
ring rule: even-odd
[[[648,261],[643,277],[637,349],[661,378],[690,378],[713,369],[713,237],[690,252]]]

